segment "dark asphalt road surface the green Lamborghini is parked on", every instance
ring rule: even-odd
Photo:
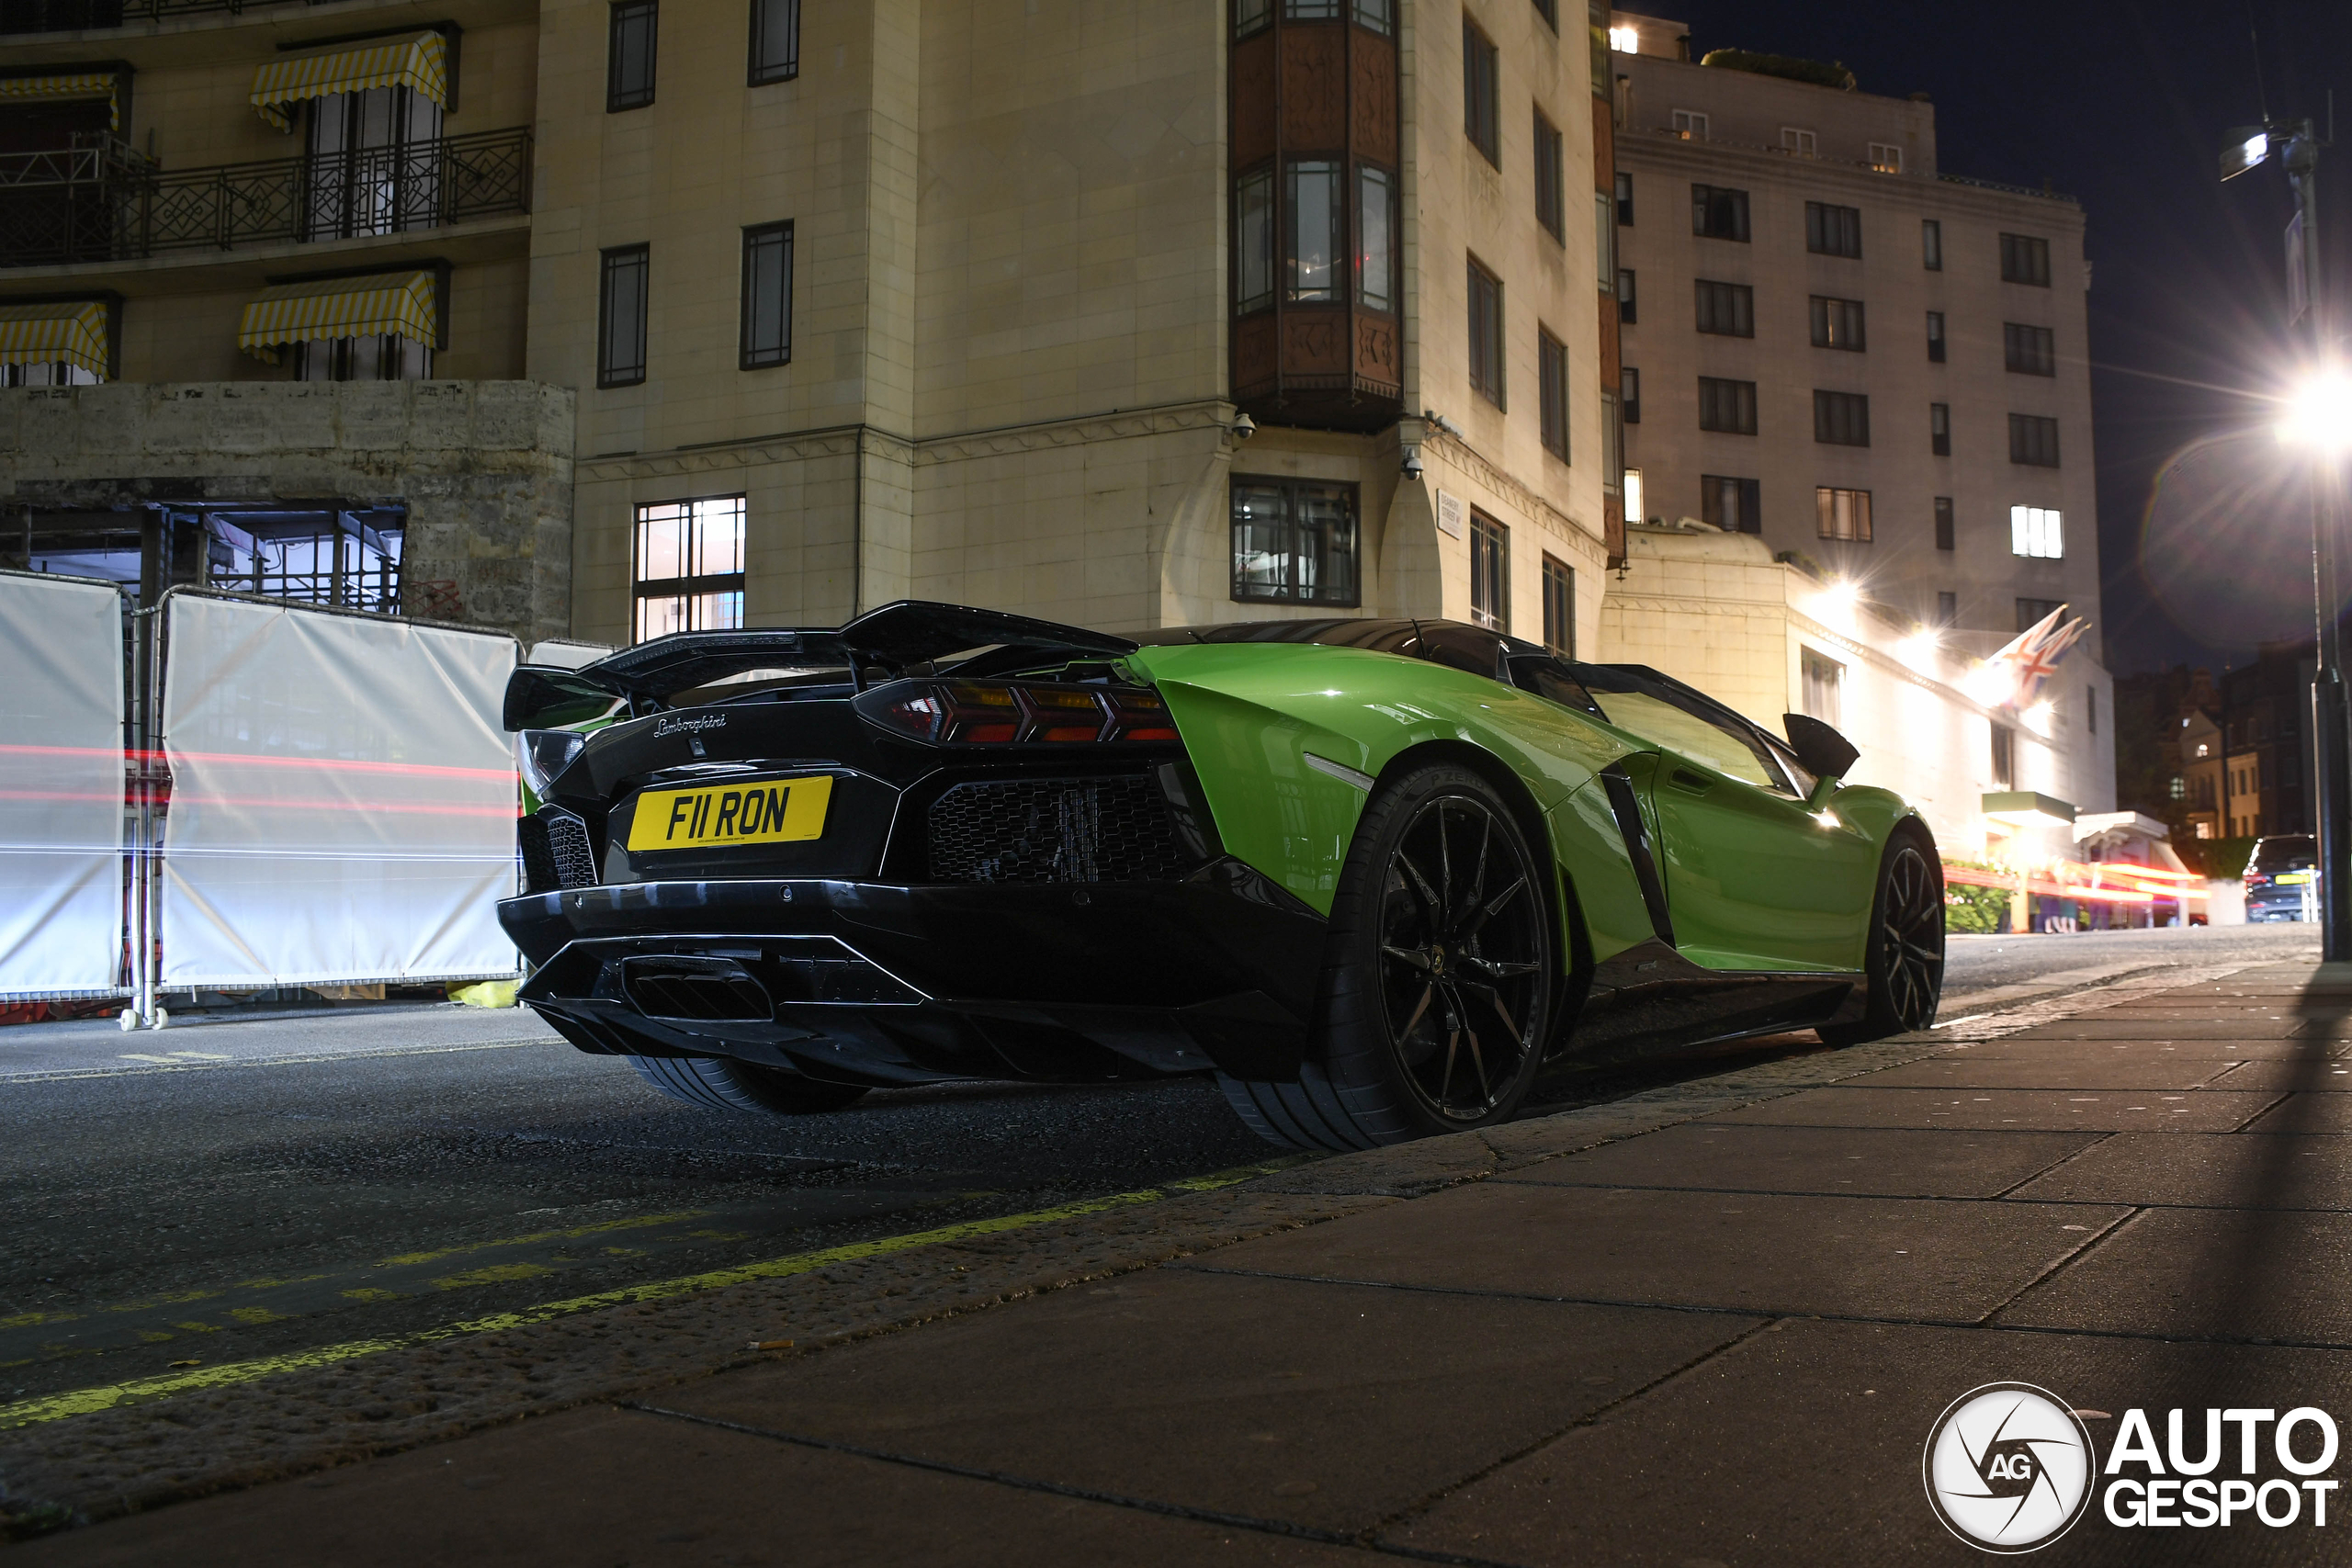
[[[1964,938],[1947,992],[2312,947],[2296,926]],[[1611,1072],[1599,1100],[1813,1051]],[[0,1030],[0,1401],[407,1333],[1263,1161],[1214,1084],[953,1084],[830,1117],[661,1098],[527,1013]]]

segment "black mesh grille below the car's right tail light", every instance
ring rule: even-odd
[[[1148,778],[964,783],[931,806],[938,882],[1174,882],[1183,870]]]

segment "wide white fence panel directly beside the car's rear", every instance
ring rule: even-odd
[[[515,639],[174,592],[162,987],[515,973]]]

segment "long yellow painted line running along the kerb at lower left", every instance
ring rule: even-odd
[[[1256,1175],[1270,1175],[1275,1171],[1294,1166],[1301,1159],[1312,1159],[1312,1157],[1270,1159],[1265,1164],[1237,1166],[1232,1171],[1218,1171],[1214,1175],[1192,1175],[1185,1180],[1169,1182],[1164,1187],[1143,1187],[1141,1192],[1112,1192],[1110,1197],[1084,1199],[1080,1204],[1061,1204],[1056,1208],[1033,1208],[1030,1213],[1007,1213],[1007,1215],[995,1215],[990,1220],[962,1220],[957,1225],[941,1225],[936,1229],[915,1229],[903,1237],[882,1237],[877,1241],[849,1241],[844,1246],[828,1246],[814,1253],[790,1253],[786,1258],[769,1258],[767,1262],[746,1262],[731,1269],[710,1269],[708,1274],[687,1274],[682,1279],[656,1279],[642,1286],[597,1291],[595,1295],[574,1295],[560,1302],[541,1302],[539,1307],[522,1307],[520,1312],[494,1312],[489,1316],[468,1319],[463,1324],[442,1324],[437,1328],[421,1328],[416,1333],[386,1335],[376,1340],[346,1340],[341,1345],[320,1345],[315,1349],[296,1349],[282,1356],[259,1356],[254,1361],[223,1361],[221,1366],[202,1366],[181,1373],[165,1373],[160,1378],[134,1378],[129,1382],[106,1382],[89,1389],[42,1394],[40,1399],[19,1399],[16,1403],[0,1406],[0,1429],[38,1427],[42,1422],[66,1420],[68,1415],[94,1415],[99,1410],[113,1410],[115,1406],[141,1403],[148,1399],[169,1399],[174,1394],[195,1394],[202,1389],[221,1389],[240,1382],[256,1382],[261,1378],[296,1373],[310,1366],[334,1366],[336,1361],[358,1361],[362,1356],[379,1356],[388,1349],[414,1349],[419,1345],[435,1345],[440,1340],[456,1340],[477,1333],[503,1333],[508,1328],[529,1328],[534,1324],[572,1316],[576,1312],[628,1307],[633,1302],[668,1300],[673,1295],[696,1295],[701,1291],[720,1291],[724,1286],[753,1284],[757,1279],[788,1279],[793,1274],[809,1274],[814,1269],[826,1269],[837,1262],[863,1262],[866,1258],[910,1253],[920,1246],[936,1246],[941,1241],[995,1237],[1011,1229],[1028,1229],[1033,1225],[1077,1220],[1089,1213],[1134,1208],[1138,1204],[1157,1204],[1162,1199],[1183,1197],[1190,1192],[1214,1192],[1218,1187],[1232,1187]]]

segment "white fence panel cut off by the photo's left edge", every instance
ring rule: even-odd
[[[0,574],[0,997],[118,994],[122,597]]]

